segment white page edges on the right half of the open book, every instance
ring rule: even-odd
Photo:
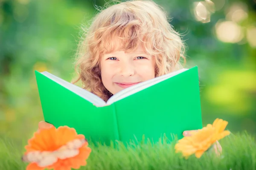
[[[116,93],[110,99],[108,99],[107,104],[112,104],[113,102],[116,102],[116,101],[118,101],[120,99],[123,99],[123,98],[125,98],[127,96],[130,96],[131,94],[135,94],[138,91],[142,91],[145,88],[148,88],[148,87],[150,87],[152,85],[155,85],[155,84],[157,84],[159,82],[162,82],[162,81],[164,81],[166,79],[169,79],[170,77],[173,77],[173,76],[175,76],[177,74],[180,74],[180,73],[182,73],[183,71],[186,71],[186,70],[188,70],[188,69],[183,68],[183,69],[180,69],[178,71],[174,71],[172,73],[165,74],[163,76],[156,77],[154,79],[150,79],[150,80],[145,81],[145,82],[141,82],[141,83],[139,83],[137,85],[133,85],[133,86],[131,86],[129,88],[125,88],[124,90]]]

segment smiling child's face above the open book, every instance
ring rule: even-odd
[[[131,53],[104,54],[100,65],[103,85],[112,94],[155,77],[155,58],[146,54],[142,46]]]

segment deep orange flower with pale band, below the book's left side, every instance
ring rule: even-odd
[[[25,146],[23,161],[30,164],[26,170],[71,170],[87,164],[91,149],[74,128],[61,126],[34,133]]]

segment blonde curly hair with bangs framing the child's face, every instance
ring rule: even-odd
[[[183,41],[168,22],[166,13],[151,0],[133,0],[100,10],[91,26],[83,29],[75,69],[84,89],[107,101],[112,94],[104,87],[99,61],[102,54],[115,50],[113,41],[122,41],[122,50],[140,44],[156,58],[155,77],[183,68]]]

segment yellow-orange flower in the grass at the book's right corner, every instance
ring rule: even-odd
[[[212,125],[208,124],[198,132],[192,133],[192,136],[180,139],[175,144],[175,152],[181,152],[186,159],[194,153],[200,158],[212,144],[230,134],[230,131],[225,130],[227,124],[227,121],[215,119]]]

